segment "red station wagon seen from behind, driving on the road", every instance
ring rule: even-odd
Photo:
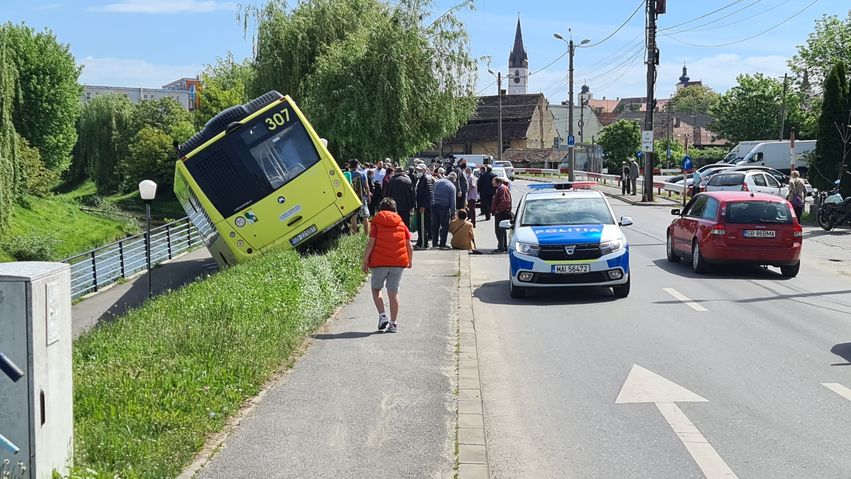
[[[744,191],[700,193],[680,211],[667,234],[668,261],[691,257],[703,273],[709,263],[779,266],[787,278],[801,267],[803,231],[783,198]]]

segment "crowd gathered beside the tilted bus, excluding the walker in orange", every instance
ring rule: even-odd
[[[402,223],[417,235],[414,249],[454,248],[477,254],[476,225],[493,217],[497,249],[492,252],[505,253],[506,233],[499,222],[511,217],[508,180],[494,174],[491,165],[478,169],[476,175],[465,159],[452,157],[430,163],[414,159],[408,166],[390,159],[366,164],[350,160],[344,175],[362,205],[349,229],[363,226],[369,235],[370,218],[381,211],[384,198],[391,198]]]

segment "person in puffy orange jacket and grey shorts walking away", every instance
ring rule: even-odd
[[[370,286],[372,301],[378,310],[378,329],[387,329],[395,333],[399,316],[399,284],[402,272],[413,265],[414,251],[411,248],[411,232],[396,213],[396,202],[393,198],[384,198],[378,205],[378,213],[372,219],[369,229],[369,241],[363,254],[364,273],[372,271]],[[387,298],[390,301],[390,318],[384,310],[384,298],[381,290],[387,288]]]

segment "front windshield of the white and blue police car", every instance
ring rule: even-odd
[[[520,226],[614,224],[602,198],[541,198],[527,200]]]

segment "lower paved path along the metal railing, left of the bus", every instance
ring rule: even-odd
[[[207,248],[179,256],[153,269],[151,280],[155,295],[177,289],[217,270],[216,262]],[[139,307],[148,299],[148,276],[142,273],[117,283],[100,293],[89,296],[71,308],[74,338],[79,337],[101,321],[120,316]]]

